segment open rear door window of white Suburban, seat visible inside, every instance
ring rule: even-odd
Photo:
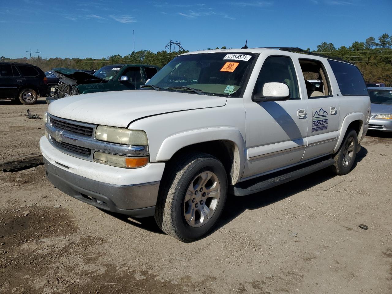
[[[299,59],[309,98],[332,95],[327,72],[319,60]]]

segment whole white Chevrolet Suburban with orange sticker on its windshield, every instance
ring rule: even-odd
[[[355,65],[294,51],[186,53],[142,89],[51,103],[40,140],[47,177],[100,209],[154,216],[189,242],[211,230],[228,193],[326,167],[347,174],[368,129],[363,77]]]

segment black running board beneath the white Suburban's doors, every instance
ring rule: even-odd
[[[232,192],[236,196],[245,196],[257,193],[281,185],[283,183],[296,180],[306,176],[307,174],[311,174],[334,165],[334,163],[334,160],[330,156],[327,158],[324,157],[321,160],[317,160],[316,162],[312,161],[309,163],[303,163],[295,167],[290,167],[289,169],[284,169],[282,171],[273,172],[265,176],[243,181],[234,185],[234,191]]]

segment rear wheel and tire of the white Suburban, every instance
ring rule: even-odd
[[[332,155],[335,163],[332,171],[339,176],[348,174],[357,156],[358,136],[354,130],[348,130],[343,138],[338,152]]]

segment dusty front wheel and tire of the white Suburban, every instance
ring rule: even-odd
[[[227,198],[225,168],[217,158],[201,152],[185,154],[174,160],[172,164],[168,164],[161,181],[155,221],[163,232],[180,241],[198,240],[212,229],[225,206]],[[203,178],[205,174],[207,176]],[[209,180],[205,180],[208,175],[211,175]],[[194,194],[189,190],[190,187],[192,189],[197,187],[193,190]],[[185,201],[187,198],[189,200]],[[211,214],[208,218],[206,215],[209,214],[205,213],[205,207]],[[188,216],[193,213],[194,217],[185,218],[186,211],[189,212]]]

